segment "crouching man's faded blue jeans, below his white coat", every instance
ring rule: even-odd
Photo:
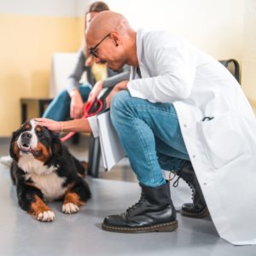
[[[177,171],[189,160],[171,103],[151,103],[122,90],[113,96],[110,114],[139,183],[160,186],[166,183],[162,169]]]

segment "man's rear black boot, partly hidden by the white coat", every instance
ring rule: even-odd
[[[183,180],[189,184],[192,189],[192,201],[193,203],[183,204],[181,213],[183,216],[190,218],[204,218],[209,214],[207,203],[201,192],[200,184],[198,183],[195,171],[191,162],[186,162],[183,167],[176,172],[178,177],[182,177]],[[175,185],[174,185],[175,186]]]

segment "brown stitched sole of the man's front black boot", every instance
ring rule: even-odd
[[[156,224],[141,228],[125,228],[102,224],[102,230],[119,233],[172,232],[177,230],[177,220],[165,224]]]

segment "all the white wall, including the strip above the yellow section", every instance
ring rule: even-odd
[[[91,0],[0,0],[0,14],[82,17]],[[256,0],[105,0],[135,29],[178,32],[217,59],[235,58],[256,99]],[[82,26],[81,26],[82,28]],[[82,35],[82,32],[81,32]]]

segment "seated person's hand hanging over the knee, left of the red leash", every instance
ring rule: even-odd
[[[73,90],[69,93],[71,96],[70,102],[70,117],[73,119],[79,119],[84,113],[84,102],[79,90]]]

